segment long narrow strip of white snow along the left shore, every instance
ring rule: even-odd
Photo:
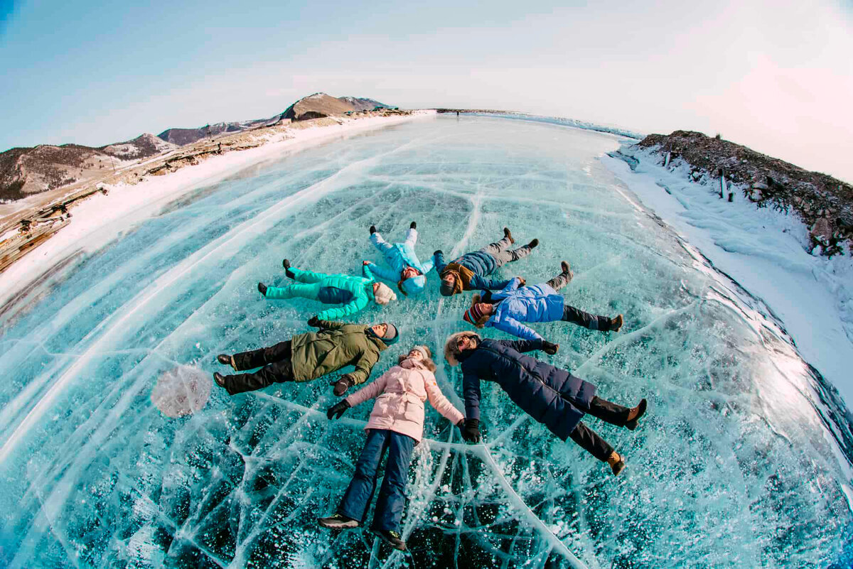
[[[434,118],[435,114],[434,111],[415,111],[397,117],[337,118],[338,124],[287,129],[259,147],[214,156],[201,164],[186,166],[167,175],[148,176],[135,185],[101,184],[108,190],[106,195],[97,193],[75,205],[72,223],[62,227],[38,249],[32,250],[3,271],[0,279],[0,306],[38,284],[56,264],[68,262],[81,251],[99,249],[134,222],[153,215],[163,204],[202,184],[212,184],[233,175],[237,170],[335,138],[419,118]]]

